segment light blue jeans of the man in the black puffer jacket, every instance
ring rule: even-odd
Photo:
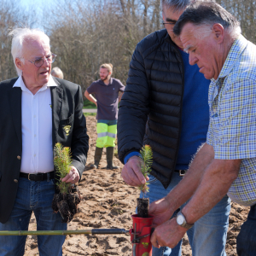
[[[149,175],[149,192],[146,197],[153,202],[165,197],[182,180],[177,172],[172,174],[172,182],[165,189],[152,175]],[[141,194],[141,197],[143,194]],[[183,204],[181,209],[186,205]],[[205,216],[195,222],[187,231],[193,256],[225,256],[225,243],[229,228],[230,198],[224,196],[222,201],[212,208]],[[153,256],[181,256],[182,241],[173,249],[169,247],[153,247]]]

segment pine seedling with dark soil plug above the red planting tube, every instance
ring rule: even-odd
[[[152,149],[149,145],[145,145],[140,151],[141,154],[141,172],[143,176],[146,178],[148,174],[151,172],[151,166],[153,163],[153,153]],[[149,200],[148,198],[144,198],[145,194],[148,192],[148,183],[144,183],[139,186],[139,189],[143,192],[143,198],[137,198],[137,217],[148,218],[148,207]]]

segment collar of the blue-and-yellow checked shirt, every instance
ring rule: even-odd
[[[226,77],[236,65],[237,59],[241,56],[243,50],[247,47],[248,41],[242,35],[236,38],[232,44],[230,52],[224,62],[224,66],[221,69],[218,79]]]

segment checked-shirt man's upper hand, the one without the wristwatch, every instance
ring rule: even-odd
[[[174,211],[172,203],[168,201],[167,197],[164,197],[149,205],[148,214],[154,215],[153,226],[158,226],[170,219]]]

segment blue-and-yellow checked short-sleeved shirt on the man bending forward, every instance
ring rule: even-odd
[[[215,159],[241,159],[228,195],[243,205],[256,204],[256,46],[241,35],[232,45],[217,80],[209,87],[207,144]]]

